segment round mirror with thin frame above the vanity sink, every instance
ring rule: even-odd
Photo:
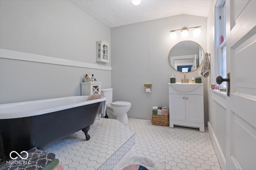
[[[204,50],[194,41],[181,41],[170,50],[168,60],[174,70],[191,72],[201,64]]]

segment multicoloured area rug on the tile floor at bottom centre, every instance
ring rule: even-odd
[[[127,153],[113,170],[165,170],[166,163]]]

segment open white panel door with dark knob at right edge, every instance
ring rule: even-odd
[[[230,72],[226,170],[255,170],[256,0],[227,0],[226,3],[227,72]]]

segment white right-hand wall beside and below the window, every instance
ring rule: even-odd
[[[212,3],[208,17],[207,17],[207,49],[211,53],[211,70],[210,78],[208,79],[208,118],[209,124],[212,129],[209,129],[209,133],[212,130],[214,135],[211,136],[211,140],[214,145],[221,168],[225,169],[226,164],[226,96],[220,93],[210,90],[211,84],[216,84],[216,76],[218,76],[218,69],[216,64],[215,43],[216,40],[214,34],[214,5],[216,1]],[[209,127],[209,126],[208,126]]]

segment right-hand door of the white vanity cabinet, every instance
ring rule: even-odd
[[[204,123],[203,95],[186,94],[186,121]]]

